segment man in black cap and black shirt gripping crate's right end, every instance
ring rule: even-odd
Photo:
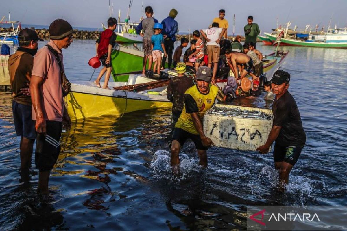
[[[273,127],[266,143],[256,149],[261,154],[266,154],[271,144],[276,141],[273,160],[275,168],[279,170],[280,191],[283,191],[288,184],[290,170],[298,160],[306,142],[299,109],[288,91],[289,80],[290,75],[286,71],[277,70],[273,74],[271,87],[276,95],[272,104]]]

